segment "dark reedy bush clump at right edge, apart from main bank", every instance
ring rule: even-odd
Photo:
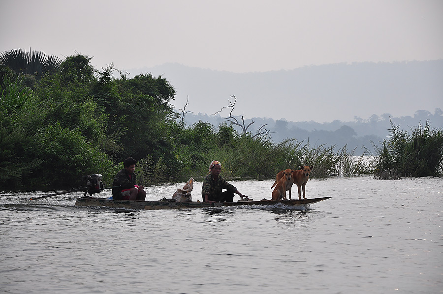
[[[443,129],[419,123],[411,134],[391,122],[388,140],[377,147],[374,176],[380,179],[443,175]]]

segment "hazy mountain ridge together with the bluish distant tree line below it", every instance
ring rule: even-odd
[[[390,118],[411,131],[429,120],[443,127],[443,59],[393,63],[339,63],[264,73],[231,73],[168,63],[128,71],[162,75],[176,89],[179,111],[189,99],[188,125],[208,121],[216,128],[229,116],[228,100],[237,97],[232,113],[255,133],[267,124],[275,142],[309,140],[348,149],[372,150],[389,134]],[[179,111],[180,112],[180,111]],[[393,113],[393,115],[391,115]],[[340,119],[340,120],[339,120]],[[318,122],[331,121],[331,122]],[[240,129],[236,127],[238,131]]]

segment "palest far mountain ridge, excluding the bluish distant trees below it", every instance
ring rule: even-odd
[[[176,89],[173,104],[214,114],[237,97],[234,115],[288,121],[351,121],[385,113],[396,117],[442,108],[443,59],[305,66],[232,73],[178,63],[129,70],[129,77],[162,75]],[[222,114],[224,115],[224,114]]]

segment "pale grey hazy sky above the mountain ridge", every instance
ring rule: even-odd
[[[443,59],[442,0],[0,0],[0,11],[0,52],[81,53],[97,69]]]

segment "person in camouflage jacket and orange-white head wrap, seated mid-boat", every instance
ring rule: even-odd
[[[221,163],[217,160],[212,161],[209,165],[209,175],[204,178],[201,188],[203,202],[234,202],[234,193],[240,195],[240,198],[246,197],[222,178],[220,172]],[[221,192],[221,189],[227,191]]]

